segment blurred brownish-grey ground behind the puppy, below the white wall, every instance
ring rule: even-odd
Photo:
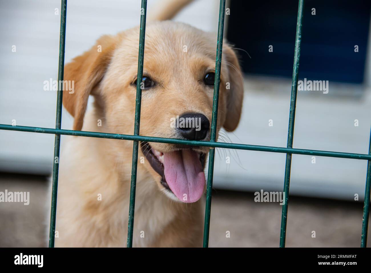
[[[0,191],[29,191],[30,205],[0,203],[0,247],[44,247],[47,183],[43,176],[0,173]],[[282,206],[251,192],[214,190],[210,247],[278,247]],[[362,201],[290,197],[287,247],[359,247]],[[371,228],[369,228],[369,233]],[[230,232],[230,238],[226,232]],[[316,237],[312,238],[312,231]],[[370,240],[369,240],[370,241]],[[371,244],[368,243],[370,247]]]

